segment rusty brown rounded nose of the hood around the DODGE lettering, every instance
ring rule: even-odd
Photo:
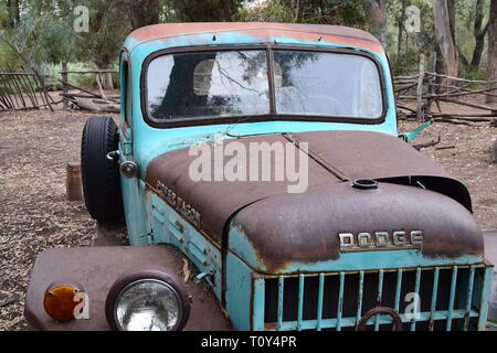
[[[233,225],[243,229],[269,274],[289,264],[337,259],[338,234],[343,232],[421,229],[426,257],[484,254],[482,232],[461,204],[421,188],[389,183],[374,192],[340,183],[274,195],[240,211]]]

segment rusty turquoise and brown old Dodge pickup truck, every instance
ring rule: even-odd
[[[33,328],[485,329],[468,190],[399,135],[376,38],[158,24],[119,65],[120,116],[87,120],[82,179],[97,238],[125,220],[130,246],[40,254]]]

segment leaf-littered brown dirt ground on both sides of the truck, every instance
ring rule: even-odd
[[[95,222],[83,202],[65,201],[65,165],[80,160],[81,132],[89,114],[0,113],[0,331],[25,330],[24,296],[34,259],[49,247],[88,246]],[[400,131],[420,124],[402,122]],[[489,125],[436,124],[415,143],[463,181],[482,228],[497,228],[497,165]],[[440,147],[450,149],[437,150]]]

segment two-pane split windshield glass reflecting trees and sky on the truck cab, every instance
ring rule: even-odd
[[[147,71],[150,118],[381,117],[380,75],[367,56],[274,50],[268,75],[267,54],[209,51],[154,58]]]

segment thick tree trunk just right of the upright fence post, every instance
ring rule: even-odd
[[[433,0],[433,25],[435,28],[438,74],[457,77],[459,56],[455,39],[454,0]],[[441,79],[446,85],[446,79]]]

